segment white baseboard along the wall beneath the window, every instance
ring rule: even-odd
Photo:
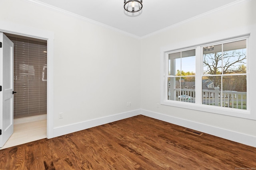
[[[148,111],[148,110],[144,110],[144,109],[141,109],[141,114],[148,116],[148,117],[152,117],[154,119],[158,119],[161,121],[165,121],[165,122],[172,123],[175,125],[183,126],[183,127],[189,128],[189,129],[194,129],[196,131],[200,131],[200,132],[207,133],[210,135],[214,135],[216,137],[221,137],[224,139],[228,139],[230,141],[234,141],[234,142],[242,143],[244,145],[256,147],[256,142],[255,142],[256,137],[251,136],[251,135],[234,132],[234,131],[230,131],[227,129],[221,129],[218,127],[213,127],[213,126],[205,125],[202,123],[197,123],[197,122],[193,122],[193,121],[189,121],[189,120],[185,120],[185,119],[180,119],[177,117],[172,117],[169,115],[164,115],[161,113],[156,113],[156,112],[152,112],[152,111]]]

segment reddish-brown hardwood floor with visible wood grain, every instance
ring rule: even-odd
[[[142,115],[0,150],[0,169],[256,169],[256,148]]]

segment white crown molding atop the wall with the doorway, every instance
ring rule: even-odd
[[[112,30],[114,30],[114,31],[120,32],[120,33],[122,33],[122,34],[124,34],[124,35],[128,35],[128,36],[130,36],[130,37],[132,37],[132,38],[135,38],[135,39],[140,39],[140,37],[137,36],[137,35],[128,33],[128,32],[126,32],[126,31],[122,31],[122,30],[120,30],[120,29],[111,27],[111,26],[106,25],[106,24],[104,24],[104,23],[100,23],[100,22],[98,22],[98,21],[91,20],[91,19],[89,19],[89,18],[80,16],[80,15],[78,15],[78,14],[74,14],[74,13],[72,13],[72,12],[63,10],[63,9],[61,9],[61,8],[57,8],[57,7],[55,7],[55,6],[46,4],[46,3],[44,3],[44,2],[40,2],[40,1],[38,1],[38,0],[22,0],[22,1],[27,2],[27,3],[30,3],[30,4],[33,4],[33,5],[36,5],[36,6],[40,6],[40,7],[42,7],[42,8],[46,8],[46,9],[48,9],[48,10],[52,10],[52,11],[55,11],[55,12],[59,12],[59,13],[62,13],[62,14],[66,14],[66,15],[68,15],[68,16],[72,16],[72,17],[74,17],[74,18],[78,18],[78,19],[80,19],[80,20],[87,21],[87,22],[89,22],[89,23],[102,26],[102,27],[107,28],[107,29],[112,29]]]

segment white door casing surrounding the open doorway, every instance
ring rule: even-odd
[[[47,41],[47,138],[54,137],[54,33],[11,22],[0,21],[0,32]]]

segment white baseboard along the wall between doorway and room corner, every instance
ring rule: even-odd
[[[62,126],[62,127],[56,127],[56,128],[54,128],[53,135],[54,135],[54,137],[58,137],[61,135],[66,135],[68,133],[73,133],[73,132],[81,131],[81,130],[88,129],[91,127],[104,125],[106,123],[111,123],[114,121],[126,119],[126,118],[133,117],[136,115],[140,115],[140,109],[128,111],[128,112],[124,112],[124,113],[119,113],[119,114],[115,114],[115,115],[110,115],[110,116],[106,116],[106,117],[100,117],[98,119],[92,119],[92,120],[83,121],[83,122],[75,123],[75,124],[70,124],[70,125],[66,125],[66,126]]]

